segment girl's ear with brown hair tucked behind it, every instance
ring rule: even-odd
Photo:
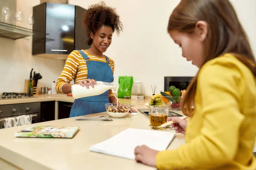
[[[204,21],[198,21],[195,24],[195,36],[198,38],[199,41],[203,42],[208,34],[208,27],[207,23]]]

